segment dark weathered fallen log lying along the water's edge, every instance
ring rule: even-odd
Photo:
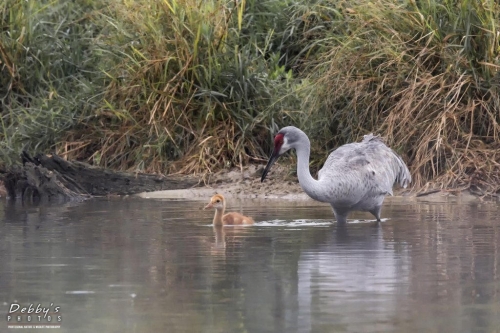
[[[93,196],[126,195],[199,184],[198,179],[179,175],[117,172],[57,155],[22,152],[22,166],[0,171],[7,195],[23,200],[84,200]]]

